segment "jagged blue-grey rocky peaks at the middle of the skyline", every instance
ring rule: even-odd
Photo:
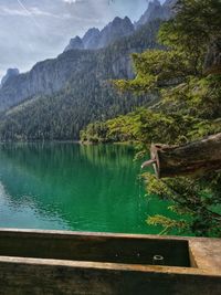
[[[75,36],[71,39],[70,44],[64,51],[85,49],[85,50],[96,50],[103,49],[115,42],[119,38],[130,35],[134,32],[134,24],[129,18],[124,19],[115,18],[109,22],[102,31],[96,28],[90,29],[83,39]]]

